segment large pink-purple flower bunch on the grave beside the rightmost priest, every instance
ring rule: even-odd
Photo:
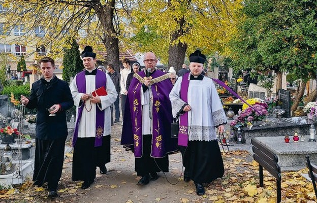
[[[254,121],[262,121],[268,114],[268,105],[266,103],[256,103],[251,107],[247,107],[241,114],[235,118],[230,126],[246,126]]]

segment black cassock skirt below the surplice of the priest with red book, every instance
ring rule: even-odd
[[[77,138],[73,154],[73,181],[93,181],[97,166],[110,162],[110,135],[103,137],[100,147],[95,138]]]

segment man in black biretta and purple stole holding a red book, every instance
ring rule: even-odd
[[[96,178],[96,167],[101,174],[107,173],[110,162],[110,106],[117,92],[110,76],[96,68],[96,53],[86,46],[81,53],[85,70],[78,73],[71,83],[76,111],[73,137],[73,181],[84,181],[88,188]],[[91,92],[105,87],[107,95],[93,96]]]

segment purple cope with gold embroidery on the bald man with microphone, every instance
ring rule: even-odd
[[[145,73],[139,72],[141,78],[146,77]],[[165,75],[162,71],[156,70],[152,80]],[[135,157],[142,157],[142,84],[137,78],[133,78],[128,98],[125,103],[123,117],[121,145],[134,151]],[[152,143],[151,157],[162,158],[169,152],[177,151],[177,141],[171,138],[172,107],[169,100],[169,93],[172,84],[168,77],[165,80],[152,84],[149,88],[152,91]],[[145,115],[146,116],[146,115]]]

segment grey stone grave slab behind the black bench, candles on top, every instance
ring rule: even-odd
[[[317,163],[317,143],[308,142],[309,136],[305,136],[305,142],[294,143],[293,137],[290,139],[290,143],[285,143],[284,137],[262,137],[254,138],[252,142],[276,154],[281,171],[298,171],[306,167],[307,154],[312,162]]]

